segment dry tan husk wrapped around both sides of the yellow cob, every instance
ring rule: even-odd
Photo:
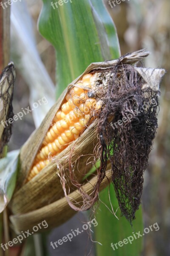
[[[84,175],[88,173],[92,167],[92,163],[90,162],[95,160],[94,147],[98,142],[96,134],[98,120],[95,120],[76,141],[72,142],[67,148],[65,148],[65,150],[59,153],[57,157],[55,157],[51,163],[42,169],[38,175],[36,175],[28,183],[24,184],[51,121],[58,109],[61,107],[63,99],[65,98],[65,95],[70,87],[76,84],[77,81],[79,81],[79,79],[81,79],[81,77],[86,73],[94,72],[96,70],[111,70],[112,67],[118,64],[119,61],[124,64],[133,65],[137,61],[140,61],[142,58],[146,57],[148,54],[149,53],[145,50],[140,50],[138,52],[122,56],[119,58],[119,60],[90,64],[90,66],[81,76],[68,85],[60,96],[59,100],[48,112],[47,116],[40,125],[40,128],[34,131],[28,141],[23,145],[19,157],[20,173],[18,177],[17,189],[10,204],[11,211],[13,212],[10,219],[12,221],[14,230],[17,233],[21,232],[23,227],[26,227],[27,229],[29,227],[31,228],[34,226],[35,222],[39,223],[44,219],[49,221],[49,227],[55,227],[70,218],[73,213],[76,213],[76,211],[70,208],[66,199],[64,198],[60,177],[57,175],[57,173],[59,174],[61,166],[65,172],[68,172],[68,159],[71,149],[74,148],[71,156],[71,163],[74,165],[74,174],[77,180],[80,183],[82,182]],[[159,84],[162,76],[164,75],[164,70],[145,70],[138,67],[136,67],[136,70],[144,78],[146,82],[144,86],[154,86],[154,90],[159,91]],[[87,165],[89,156],[94,157],[94,159],[93,161],[89,161],[89,164]],[[78,159],[79,161],[77,161]],[[103,184],[104,185],[102,185],[102,188],[108,185],[108,183],[105,182]],[[92,187],[89,185],[89,183],[85,184],[84,186],[87,192],[91,192]],[[73,200],[80,199],[80,195],[77,198],[78,191],[73,192],[75,188],[72,186],[70,186],[70,189],[71,198],[73,198]],[[64,208],[62,208],[62,204]],[[60,215],[62,212],[64,214],[61,217]]]

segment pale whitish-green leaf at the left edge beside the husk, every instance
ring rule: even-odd
[[[13,195],[17,179],[19,151],[11,151],[7,157],[0,159],[0,212],[2,212]]]

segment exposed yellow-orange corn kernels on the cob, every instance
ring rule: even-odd
[[[37,175],[69,143],[76,140],[82,131],[96,118],[102,101],[94,92],[98,73],[88,73],[68,91],[61,108],[57,111],[42,142],[42,147],[35,157],[27,182]]]

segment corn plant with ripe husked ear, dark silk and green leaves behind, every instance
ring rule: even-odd
[[[96,253],[112,255],[112,239],[130,235],[131,225],[142,230],[143,173],[164,70],[136,66],[146,50],[120,56],[116,28],[102,0],[68,1],[56,8],[44,0],[39,29],[56,49],[57,102],[20,150],[9,204],[12,228],[21,233],[45,219],[51,229],[100,199],[108,207],[96,210],[95,239],[103,244],[96,245]],[[122,126],[112,127],[123,118]],[[113,208],[124,218],[118,221]],[[138,255],[142,239],[128,248],[126,255]],[[125,248],[115,255],[122,253]]]

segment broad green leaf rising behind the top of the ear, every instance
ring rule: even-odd
[[[39,29],[56,49],[58,97],[92,62],[118,58],[119,42],[102,0],[43,3]]]

